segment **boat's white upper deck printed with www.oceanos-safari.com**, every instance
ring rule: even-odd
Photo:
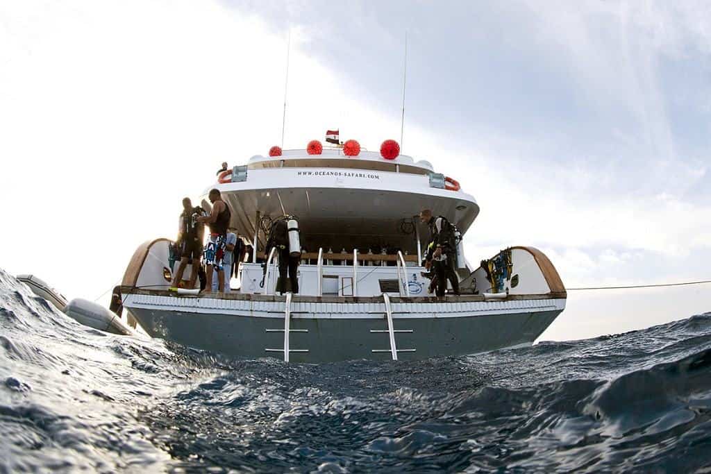
[[[479,214],[476,200],[459,183],[410,156],[387,160],[369,151],[345,156],[340,149],[319,155],[287,150],[252,156],[225,175],[205,189],[205,198],[210,188],[220,190],[232,209],[232,227],[252,236],[264,216],[296,215],[309,250],[387,246],[417,254],[412,225],[428,235],[413,219],[419,210],[444,215],[462,233]]]

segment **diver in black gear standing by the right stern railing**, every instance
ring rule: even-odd
[[[449,280],[452,291],[455,295],[459,295],[459,278],[454,271],[456,266],[454,226],[443,216],[433,217],[429,209],[419,212],[419,220],[429,226],[430,245],[427,247],[426,266],[427,269],[429,266],[434,269],[434,276],[437,279],[435,294],[438,298],[444,298],[447,280]]]

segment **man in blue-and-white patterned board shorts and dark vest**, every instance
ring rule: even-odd
[[[215,269],[218,271],[218,291],[222,293],[225,291],[225,270],[223,268],[225,239],[232,213],[227,203],[223,201],[220,190],[211,189],[208,198],[210,198],[210,203],[213,203],[213,211],[210,212],[210,215],[198,217],[198,222],[210,226],[210,239],[204,250],[205,265],[207,265],[205,288],[208,291],[213,289],[213,269]]]

